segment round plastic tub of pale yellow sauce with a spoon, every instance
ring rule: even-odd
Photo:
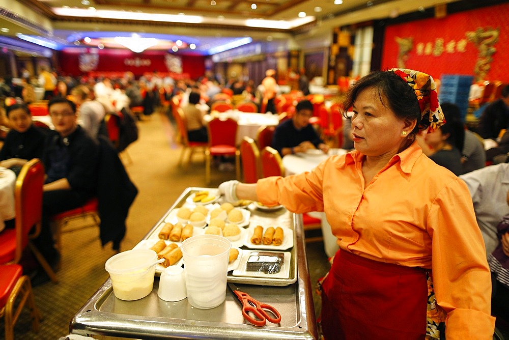
[[[132,301],[146,297],[154,286],[157,254],[152,249],[133,249],[123,251],[106,261],[106,271],[111,278],[115,296],[121,300]]]

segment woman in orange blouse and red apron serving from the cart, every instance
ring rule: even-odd
[[[354,151],[310,173],[219,186],[229,201],[325,212],[340,246],[322,284],[326,339],[435,338],[443,321],[448,340],[492,338],[490,271],[468,189],[415,141],[443,124],[435,89],[420,72],[373,72],[344,104]]]

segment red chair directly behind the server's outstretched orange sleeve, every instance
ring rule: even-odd
[[[285,167],[282,164],[281,156],[271,147],[265,147],[261,155],[262,175],[269,176],[285,176]],[[319,218],[310,216],[307,213],[302,214],[302,225],[304,232],[313,230],[322,230],[322,221]],[[323,237],[319,236],[306,237],[306,242],[322,241]]]

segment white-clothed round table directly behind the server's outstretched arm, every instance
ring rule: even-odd
[[[285,167],[285,176],[299,174],[303,172],[312,171],[318,164],[327,159],[331,155],[346,154],[348,150],[344,149],[330,149],[328,153],[320,152],[319,150],[310,150],[308,153],[296,153],[293,155],[286,155],[282,158],[283,166]],[[330,224],[327,221],[324,212],[310,212],[310,216],[320,218],[322,220],[322,237],[324,250],[327,257],[332,257],[337,249],[339,249],[336,237],[332,235]]]

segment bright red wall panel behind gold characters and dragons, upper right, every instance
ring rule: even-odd
[[[467,32],[474,32],[478,27],[500,29],[498,42],[493,47],[493,62],[485,80],[502,80],[509,82],[507,72],[507,46],[509,46],[509,4],[480,8],[447,15],[445,18],[423,19],[395,24],[386,27],[381,69],[397,67],[399,38],[413,38],[413,48],[408,53],[405,67],[431,74],[440,78],[442,74],[474,74],[479,50],[468,41]],[[440,55],[426,53],[426,46],[434,48],[437,42],[443,41],[443,52]],[[462,45],[464,44],[464,51]],[[447,44],[449,49],[447,51]],[[454,47],[453,47],[454,46]],[[419,49],[420,47],[420,49]]]

